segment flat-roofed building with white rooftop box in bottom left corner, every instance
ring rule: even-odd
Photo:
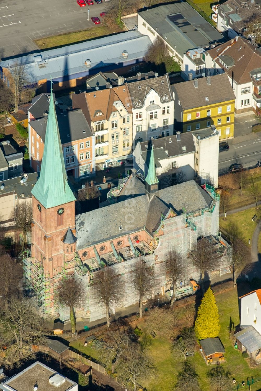
[[[78,384],[60,375],[42,362],[36,361],[21,372],[5,380],[0,388],[3,391],[25,391],[39,389],[55,391],[78,391]]]

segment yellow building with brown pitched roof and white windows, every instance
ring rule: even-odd
[[[235,95],[226,74],[172,84],[172,91],[176,130],[214,125],[221,140],[234,136]]]

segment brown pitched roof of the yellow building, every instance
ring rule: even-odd
[[[181,108],[188,110],[236,99],[226,74],[201,77],[197,80],[172,84],[175,105],[179,100]],[[195,87],[195,83],[198,83],[198,87]]]

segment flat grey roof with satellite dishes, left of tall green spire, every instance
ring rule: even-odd
[[[27,174],[27,180],[23,184],[20,183],[20,180],[24,178],[24,175],[18,176],[16,178],[6,179],[5,181],[0,181],[0,185],[4,185],[4,189],[0,190],[0,196],[2,194],[15,192],[18,198],[32,197],[31,190],[37,181],[37,177],[38,177],[38,172]]]

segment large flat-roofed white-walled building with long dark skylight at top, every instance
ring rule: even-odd
[[[183,54],[194,48],[210,48],[225,42],[223,36],[187,2],[159,5],[138,12],[138,30],[152,42],[160,37],[181,64]]]

